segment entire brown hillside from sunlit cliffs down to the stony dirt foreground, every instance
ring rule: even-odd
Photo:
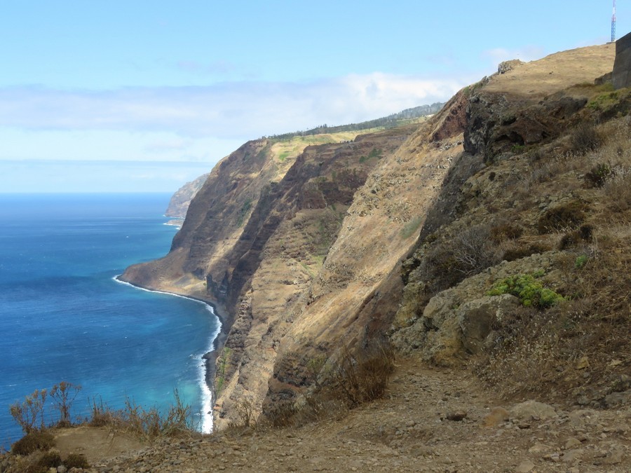
[[[123,276],[217,306],[219,433],[94,461],[628,471],[631,90],[595,85],[614,55],[501,64],[423,123],[224,158],[170,253]]]

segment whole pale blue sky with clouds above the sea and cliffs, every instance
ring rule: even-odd
[[[0,0],[0,193],[175,192],[249,139],[602,44],[611,1]],[[617,2],[617,36],[631,1]]]

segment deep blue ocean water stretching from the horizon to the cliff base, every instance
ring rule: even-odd
[[[93,399],[164,408],[177,389],[208,430],[212,309],[114,280],[168,252],[169,198],[0,194],[0,446],[21,436],[9,405],[60,381],[82,387],[76,416]]]

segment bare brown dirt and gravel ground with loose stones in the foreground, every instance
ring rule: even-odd
[[[233,428],[141,447],[83,427],[70,445],[93,472],[628,472],[631,409],[502,402],[468,370],[399,359],[388,392],[344,418],[278,430]],[[85,444],[81,444],[85,439]],[[69,443],[70,442],[70,443]],[[127,442],[131,451],[121,451]],[[116,446],[116,450],[112,447]],[[140,449],[138,449],[140,448]],[[114,456],[116,455],[116,456]]]

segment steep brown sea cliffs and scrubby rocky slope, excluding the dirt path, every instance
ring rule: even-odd
[[[254,418],[297,409],[348,350],[386,336],[425,362],[475,362],[489,384],[519,371],[503,354],[534,360],[513,395],[562,381],[589,404],[618,389],[626,365],[605,367],[628,352],[616,333],[629,328],[629,100],[594,85],[614,53],[509,64],[423,123],[295,153],[260,139],[224,158],[170,253],[123,275],[219,307],[217,425],[244,405]],[[519,275],[566,301],[488,295]],[[550,342],[529,352],[522,335]],[[580,353],[590,378],[574,370]]]

